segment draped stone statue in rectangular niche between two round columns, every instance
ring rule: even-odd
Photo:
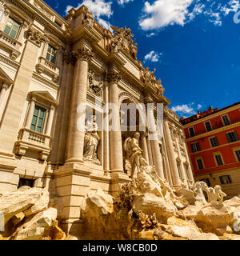
[[[92,120],[86,122],[86,134],[83,149],[84,160],[89,160],[98,165],[101,164],[97,155],[99,141],[100,137],[98,136],[98,124],[96,123],[96,116],[93,115]]]

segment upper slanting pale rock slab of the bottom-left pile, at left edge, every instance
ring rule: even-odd
[[[2,194],[0,198],[0,212],[5,216],[5,223],[16,214],[30,209],[31,206],[42,198],[43,190],[23,186],[14,192]]]

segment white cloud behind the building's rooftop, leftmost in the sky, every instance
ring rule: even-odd
[[[82,2],[78,3],[78,6],[66,6],[66,14],[72,8],[78,9],[80,6],[85,5],[88,7],[91,13],[94,14],[94,18],[104,26],[106,29],[110,30],[110,22],[102,19],[103,17],[110,18],[114,13],[112,10],[112,3],[113,2],[105,2],[105,0],[83,0]]]

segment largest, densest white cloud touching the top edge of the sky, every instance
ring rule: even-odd
[[[139,25],[142,30],[155,30],[168,25],[184,25],[187,8],[194,0],[157,0],[152,5],[145,2],[143,17]]]

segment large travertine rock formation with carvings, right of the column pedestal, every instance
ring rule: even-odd
[[[85,238],[240,240],[234,228],[240,198],[222,202],[222,190],[211,188],[214,197],[206,200],[202,187],[206,185],[197,182],[191,190],[173,190],[154,167],[142,167],[117,197],[102,190],[86,197]]]

